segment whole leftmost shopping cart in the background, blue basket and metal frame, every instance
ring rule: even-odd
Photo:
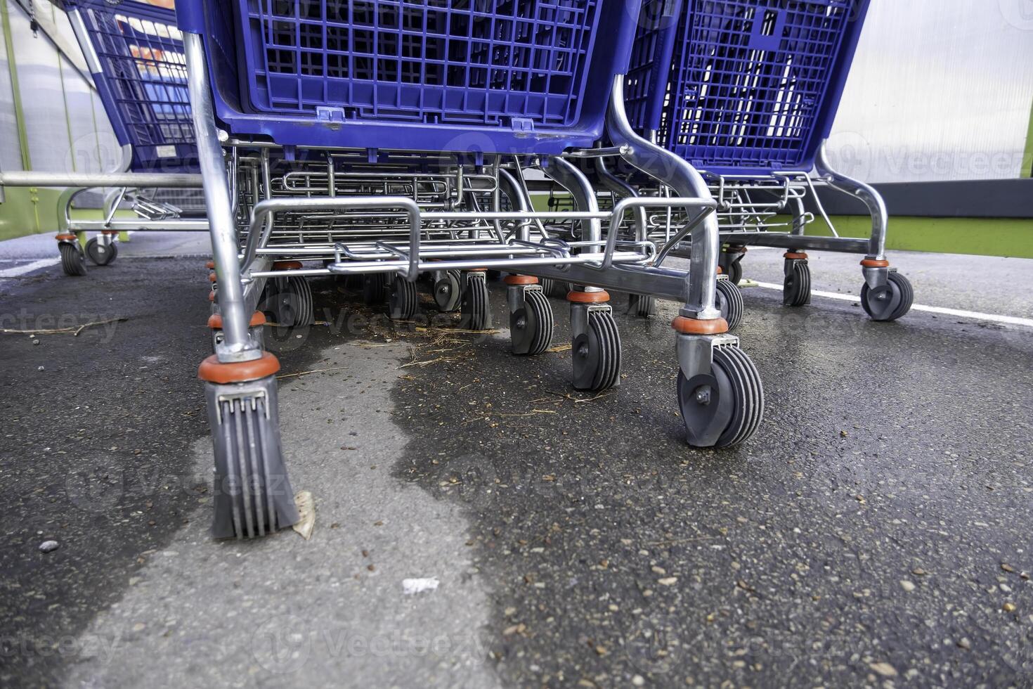
[[[196,174],[186,57],[176,13],[136,0],[73,0],[68,19],[86,56],[97,93],[122,147],[115,173],[182,176]],[[103,184],[97,176],[97,186]],[[72,220],[73,199],[86,188],[63,194],[58,244],[68,275],[86,273],[85,257],[106,265],[118,255],[120,231],[207,230],[199,189],[116,187],[104,198],[103,220]],[[128,202],[136,218],[116,218]],[[85,247],[74,232],[97,231]],[[84,255],[85,254],[85,255]]]

